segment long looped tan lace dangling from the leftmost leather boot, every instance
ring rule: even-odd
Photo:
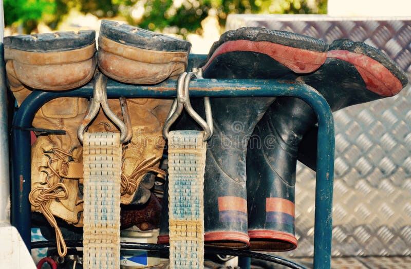
[[[48,153],[52,153],[53,158]],[[42,184],[42,186],[35,187],[30,191],[29,201],[33,206],[39,207],[40,212],[44,215],[50,225],[54,227],[55,238],[57,240],[57,251],[59,253],[59,256],[64,257],[67,254],[67,246],[64,242],[63,234],[61,233],[57,221],[55,220],[47,205],[53,199],[68,198],[67,188],[62,182],[55,184],[51,183],[51,177],[60,177],[58,172],[51,166],[51,164],[59,160],[65,161],[66,159],[68,159],[68,161],[71,161],[73,160],[73,155],[71,152],[62,150],[60,148],[52,148],[49,151],[45,150],[44,155],[49,159],[45,168],[48,168],[51,171],[51,175],[47,171],[43,170],[43,172],[45,172],[47,175],[46,182]]]

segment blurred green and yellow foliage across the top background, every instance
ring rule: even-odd
[[[128,23],[150,30],[172,26],[186,35],[201,33],[201,21],[216,15],[225,25],[230,13],[326,13],[327,0],[4,0],[5,24],[22,25],[29,33],[40,21],[55,29],[70,9],[99,18],[122,16]],[[135,10],[144,8],[140,16]]]

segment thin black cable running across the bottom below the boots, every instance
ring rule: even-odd
[[[36,241],[31,242],[31,248],[42,248],[42,247],[55,247],[55,241]],[[82,247],[83,241],[66,241],[67,247]],[[149,243],[128,243],[128,242],[121,242],[121,248],[127,249],[141,249],[146,251],[161,251],[161,252],[169,252],[170,246],[165,244],[149,244]],[[272,256],[268,254],[252,252],[247,250],[240,250],[240,249],[229,249],[229,248],[219,248],[219,247],[212,247],[212,246],[205,246],[204,252],[206,254],[222,254],[222,255],[230,255],[230,256],[240,256],[240,257],[249,257],[258,260],[264,260],[269,262],[274,262],[277,264],[282,264],[287,267],[293,269],[305,269],[305,267],[301,266],[300,264],[294,263],[287,259]]]

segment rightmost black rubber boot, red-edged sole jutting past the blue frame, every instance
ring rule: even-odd
[[[395,95],[407,84],[404,72],[388,56],[350,40],[334,41],[324,65],[297,80],[319,91],[332,111]],[[284,97],[275,100],[254,130],[253,143],[247,151],[249,235],[253,250],[289,251],[297,245],[297,152],[303,136],[315,123],[309,105]]]

